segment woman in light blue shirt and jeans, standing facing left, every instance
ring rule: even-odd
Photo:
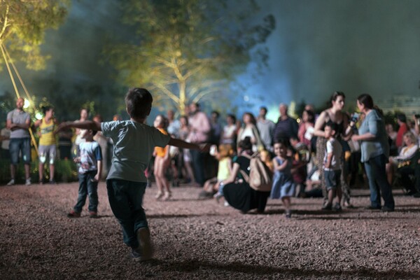
[[[369,209],[382,209],[394,211],[391,185],[386,179],[386,162],[389,158],[388,137],[385,130],[384,116],[374,108],[373,99],[369,94],[360,94],[357,106],[365,115],[363,123],[358,129],[358,135],[353,135],[353,141],[360,141],[362,152],[361,162],[365,163],[365,171],[369,180],[370,207]],[[384,207],[381,207],[381,196]]]

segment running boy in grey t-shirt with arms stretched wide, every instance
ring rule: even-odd
[[[148,90],[133,88],[127,92],[125,105],[130,120],[96,123],[84,121],[67,122],[66,127],[100,130],[114,143],[111,169],[106,178],[109,204],[123,229],[124,243],[132,248],[134,260],[150,260],[153,256],[146,214],[142,207],[147,179],[144,170],[151,160],[155,146],[167,145],[179,148],[203,150],[208,145],[198,146],[160,133],[155,127],[145,124],[151,113],[153,97]]]

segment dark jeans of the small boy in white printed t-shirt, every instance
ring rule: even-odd
[[[79,193],[77,203],[73,207],[74,211],[80,213],[86,202],[87,195],[89,196],[89,211],[97,212],[98,209],[98,182],[94,181],[94,176],[97,171],[90,171],[86,173],[79,173]]]

